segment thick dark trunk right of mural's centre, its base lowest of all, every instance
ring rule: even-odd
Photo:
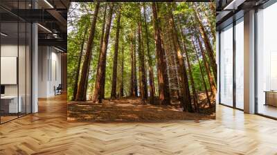
[[[168,6],[170,7],[169,25],[171,27],[171,35],[173,36],[173,39],[174,39],[173,47],[177,53],[177,62],[179,64],[179,82],[181,83],[181,89],[180,89],[181,100],[180,101],[184,107],[184,111],[193,112],[193,107],[192,107],[191,98],[190,98],[190,89],[189,89],[189,85],[188,85],[188,75],[186,73],[186,66],[184,64],[184,57],[181,53],[181,46],[179,44],[177,30],[175,27],[175,21],[173,19],[171,4],[168,3]]]

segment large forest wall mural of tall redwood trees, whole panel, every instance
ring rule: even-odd
[[[215,3],[71,3],[68,120],[215,118]]]

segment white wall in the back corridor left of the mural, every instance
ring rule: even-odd
[[[39,46],[38,51],[38,97],[48,98],[61,83],[61,54],[50,46]]]

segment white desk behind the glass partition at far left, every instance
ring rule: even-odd
[[[8,113],[17,113],[22,111],[21,95],[18,96],[19,102],[17,105],[17,95],[3,95],[1,96],[1,104],[8,104]]]

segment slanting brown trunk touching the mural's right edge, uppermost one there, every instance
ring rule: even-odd
[[[193,11],[195,14],[195,19],[197,20],[197,22],[199,24],[199,30],[202,35],[202,39],[204,40],[205,48],[208,53],[208,58],[210,60],[210,63],[211,63],[212,69],[213,69],[213,76],[215,77],[215,80],[217,80],[217,64],[215,62],[215,54],[213,52],[213,47],[211,46],[210,40],[208,39],[208,36],[206,34],[206,31],[204,29],[202,21],[200,21],[200,19],[199,19],[199,15],[195,11],[195,9]],[[195,26],[195,28],[196,28],[196,26]]]

